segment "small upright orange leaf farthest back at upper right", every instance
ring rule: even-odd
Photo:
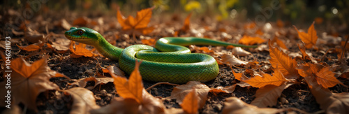
[[[316,30],[314,29],[314,22],[309,27],[308,33],[305,33],[303,31],[298,31],[296,26],[293,26],[293,27],[295,27],[295,29],[297,30],[299,38],[301,38],[301,40],[306,44],[305,45],[306,48],[312,48],[316,44],[316,41],[318,40],[318,36],[316,36]]]

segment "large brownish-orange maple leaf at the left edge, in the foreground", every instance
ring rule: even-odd
[[[55,83],[50,82],[52,77],[61,77],[61,73],[52,71],[47,66],[47,56],[29,64],[22,57],[11,61],[13,72],[10,75],[13,104],[24,104],[29,109],[36,110],[36,97],[46,90],[58,90]],[[6,76],[5,76],[6,77]],[[6,81],[1,82],[3,85]],[[1,85],[2,85],[1,84]],[[5,87],[5,86],[4,86]],[[1,89],[2,90],[2,89]]]

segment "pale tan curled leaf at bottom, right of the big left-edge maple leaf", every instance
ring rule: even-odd
[[[73,106],[70,113],[89,113],[89,111],[100,108],[96,104],[94,93],[82,87],[73,87],[69,90],[61,90],[73,98]]]

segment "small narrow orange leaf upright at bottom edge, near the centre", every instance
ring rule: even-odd
[[[181,108],[184,110],[185,113],[188,114],[196,114],[198,113],[199,109],[199,99],[198,94],[195,92],[195,88],[191,90],[188,94],[186,94],[186,97],[184,97]]]

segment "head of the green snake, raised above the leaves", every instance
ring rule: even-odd
[[[64,36],[71,41],[85,43],[88,45],[98,45],[98,41],[101,41],[101,38],[103,38],[101,34],[94,29],[89,29],[86,27],[71,27],[64,33]]]

